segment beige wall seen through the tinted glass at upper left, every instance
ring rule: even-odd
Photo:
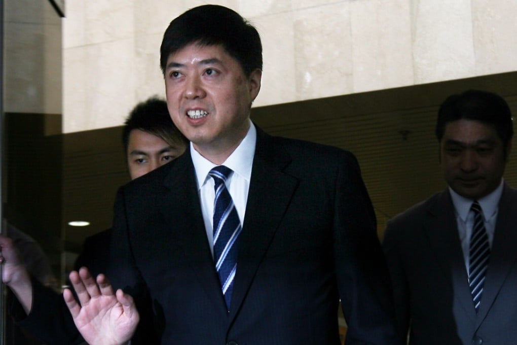
[[[4,111],[61,113],[61,40],[49,1],[4,1]]]

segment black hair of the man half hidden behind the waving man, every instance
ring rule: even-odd
[[[122,143],[125,154],[127,154],[129,146],[129,133],[133,129],[140,129],[153,134],[171,146],[178,144],[187,145],[189,142],[172,122],[165,100],[158,97],[151,97],[136,104],[126,118],[122,130]]]

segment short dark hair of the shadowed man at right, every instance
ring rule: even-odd
[[[438,110],[435,134],[442,141],[445,126],[460,119],[479,121],[494,126],[497,136],[505,147],[513,137],[513,119],[505,99],[495,93],[470,89],[461,94],[451,95]]]

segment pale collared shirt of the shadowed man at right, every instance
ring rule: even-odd
[[[470,206],[474,200],[470,200],[460,196],[457,192],[449,187],[452,203],[454,204],[456,222],[458,223],[458,233],[460,235],[461,249],[463,250],[463,259],[468,272],[468,257],[470,250],[470,236],[472,235],[472,227],[474,226],[474,212],[470,211]],[[498,204],[501,194],[503,193],[503,179],[499,186],[488,196],[479,199],[483,213],[484,226],[488,234],[490,247],[494,241],[495,222],[499,211]]]

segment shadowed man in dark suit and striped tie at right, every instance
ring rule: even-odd
[[[517,191],[503,179],[512,136],[493,93],[466,91],[439,109],[448,188],[390,220],[383,243],[411,344],[517,343]]]

